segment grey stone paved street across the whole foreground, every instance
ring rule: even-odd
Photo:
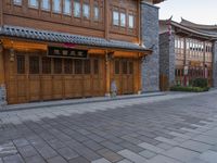
[[[217,91],[0,113],[0,163],[216,163]]]

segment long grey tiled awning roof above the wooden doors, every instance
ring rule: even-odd
[[[114,48],[114,49],[137,50],[137,51],[148,50],[145,47],[141,47],[139,45],[126,41],[106,40],[98,37],[86,37],[66,33],[38,30],[34,28],[8,26],[8,25],[0,27],[0,36],[10,36],[10,37],[34,39],[34,40],[62,42],[62,43],[75,43],[80,46],[91,46],[100,48]]]

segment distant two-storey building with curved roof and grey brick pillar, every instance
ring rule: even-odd
[[[159,87],[191,85],[207,78],[217,86],[217,26],[199,25],[182,20],[159,21]]]

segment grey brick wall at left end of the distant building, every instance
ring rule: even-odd
[[[164,33],[159,35],[159,74],[168,78],[168,87],[175,84],[175,35]]]

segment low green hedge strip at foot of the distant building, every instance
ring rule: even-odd
[[[170,88],[171,91],[187,91],[187,92],[203,92],[208,91],[208,87],[182,87],[182,86],[174,86]]]

